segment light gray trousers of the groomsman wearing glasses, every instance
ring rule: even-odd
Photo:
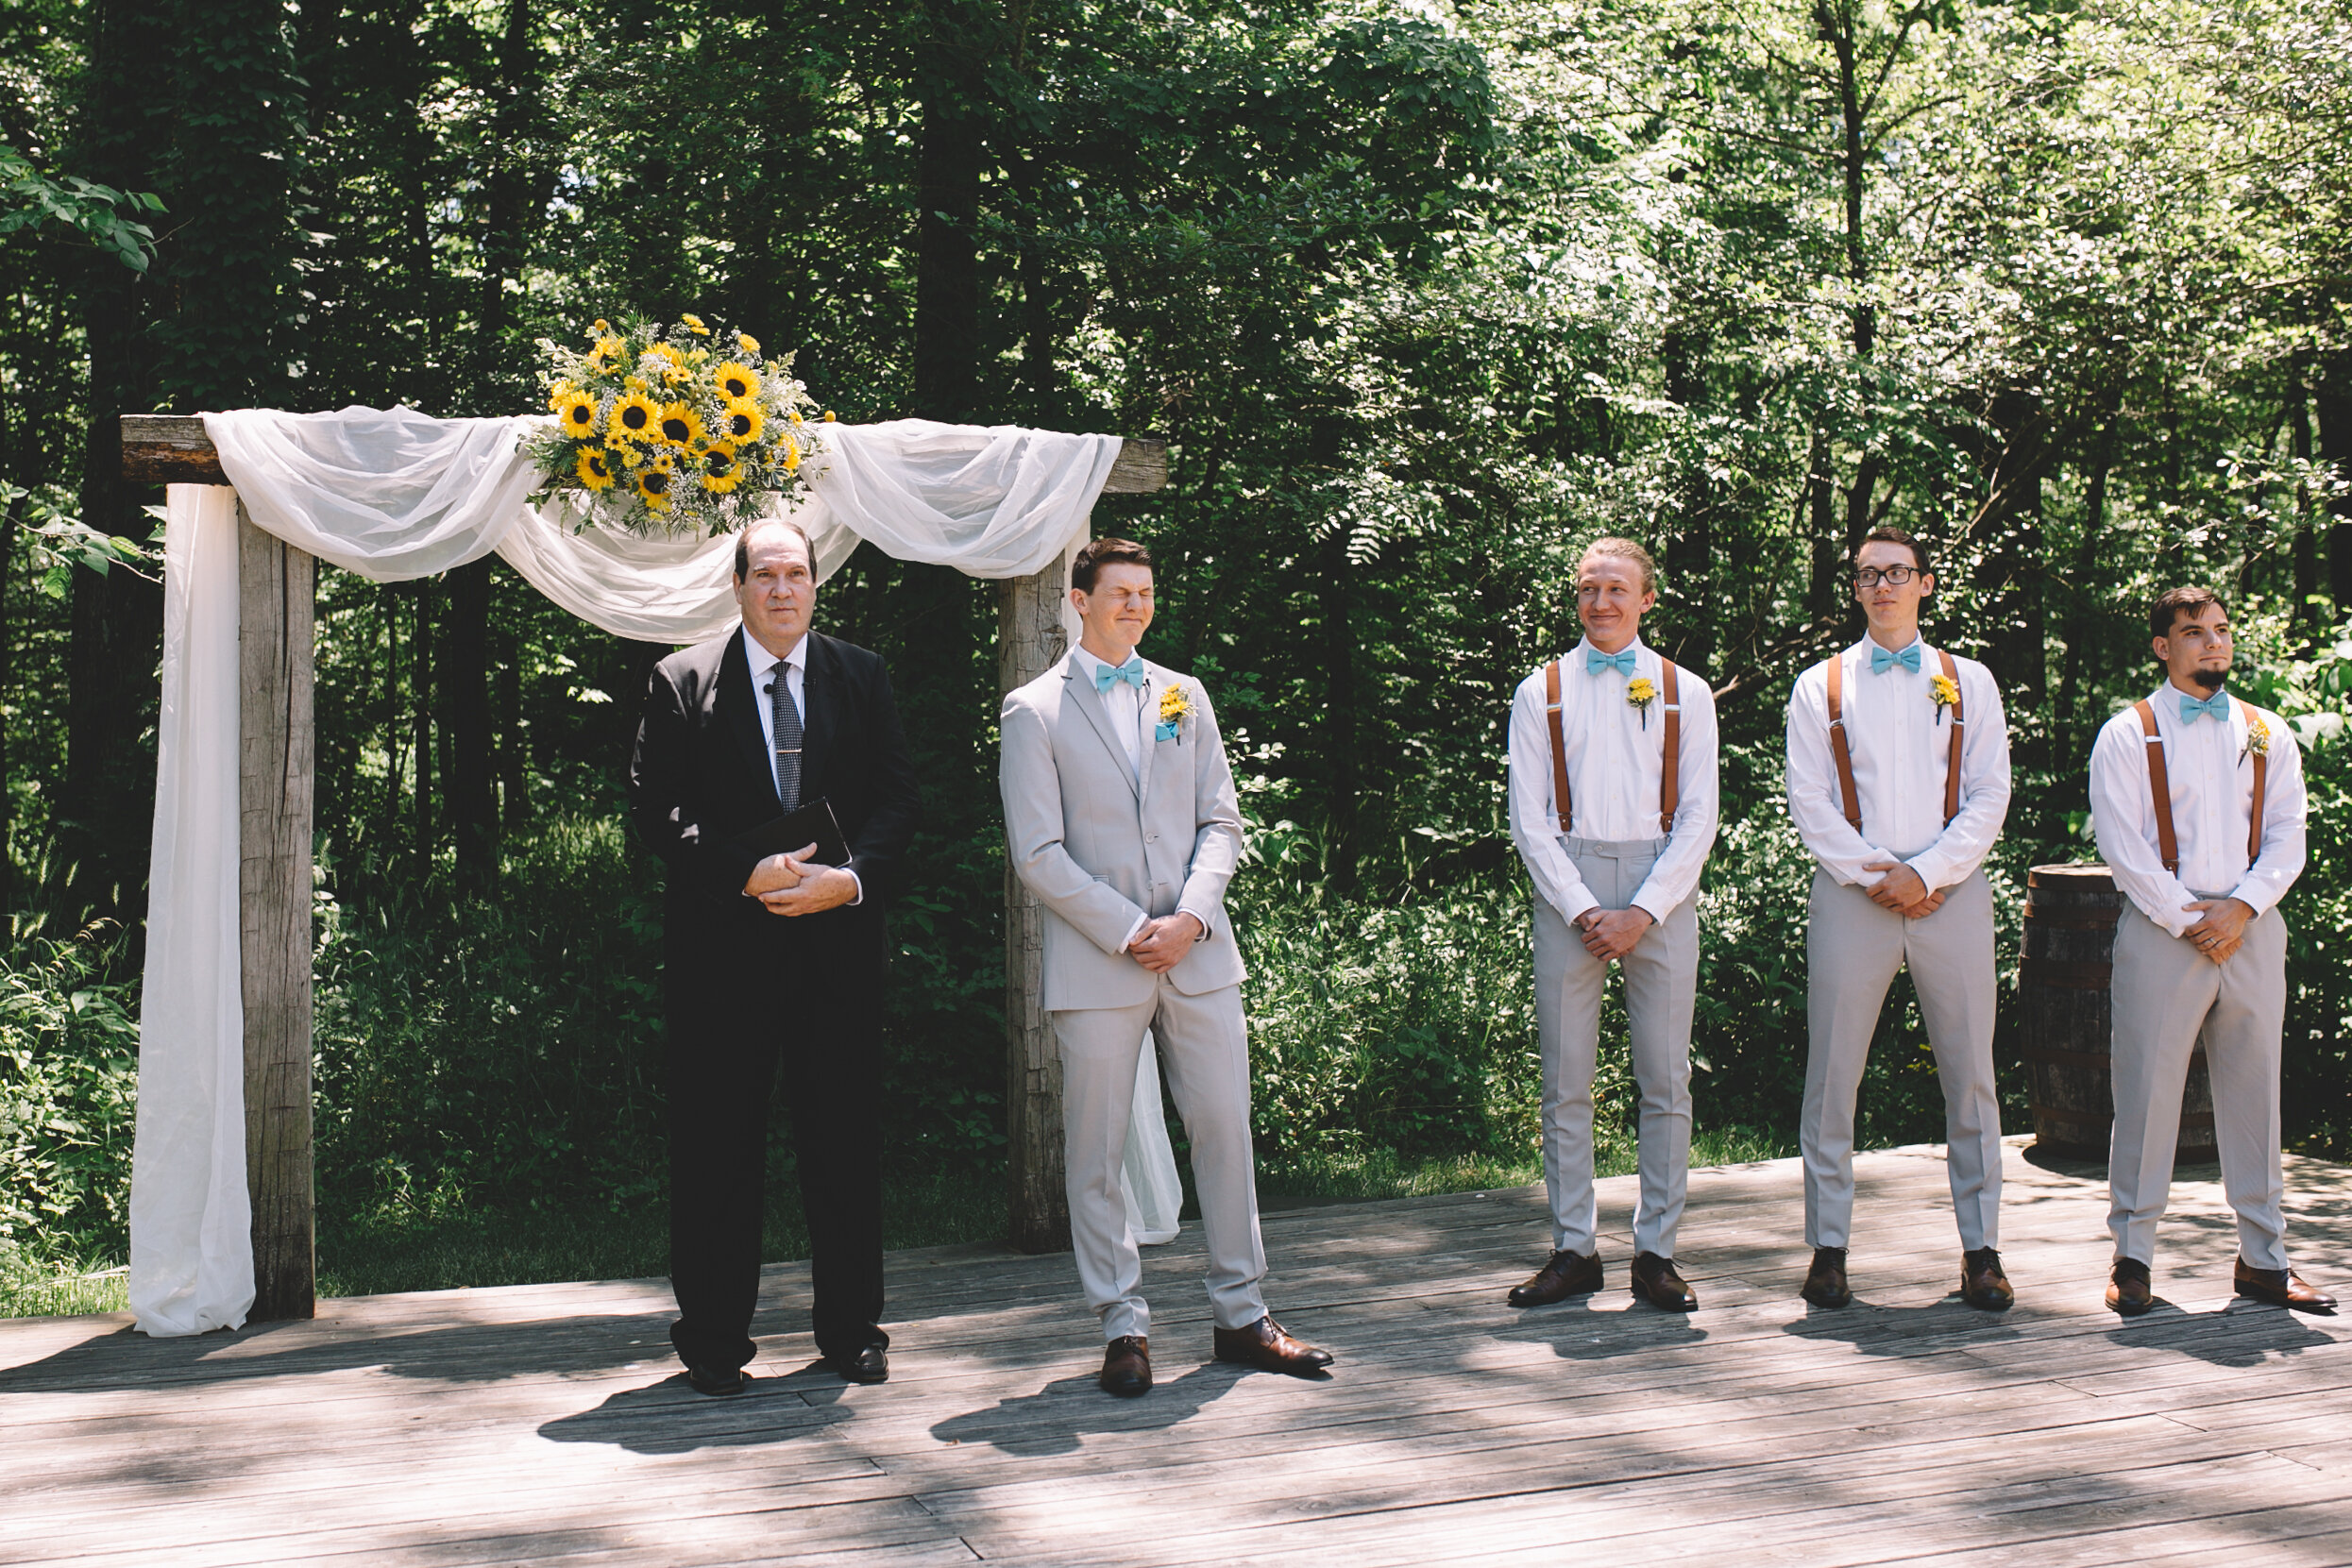
[[[1806,1023],[1804,1241],[1846,1246],[1853,1232],[1853,1103],[1886,987],[1905,964],[1943,1084],[1943,1164],[1966,1251],[2002,1244],[2002,1107],[1992,1093],[1992,884],[1985,872],[1945,891],[1926,919],[1905,919],[1870,893],[1813,872],[1804,938]]]

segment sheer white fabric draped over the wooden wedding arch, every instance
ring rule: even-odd
[[[245,1192],[245,1013],[238,966],[238,536],[256,527],[376,581],[449,571],[496,550],[534,588],[619,637],[701,642],[736,621],[729,538],[647,541],[560,496],[534,508],[522,437],[541,418],[414,409],[207,414],[233,489],[174,484],[165,524],[162,724],[148,969],[139,1020],[129,1298],[155,1335],[235,1328],[254,1300]],[[901,418],[823,425],[793,510],[818,576],[858,541],[901,559],[1007,578],[1042,571],[1087,531],[1115,435]],[[1150,1053],[1150,1044],[1145,1044]],[[1176,1164],[1150,1110],[1129,1133],[1138,1237],[1174,1234]]]

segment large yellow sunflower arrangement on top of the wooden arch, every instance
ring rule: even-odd
[[[588,343],[539,339],[555,428],[527,447],[546,475],[536,498],[576,494],[576,527],[722,534],[814,477],[823,421],[793,355],[762,360],[757,339],[699,315],[600,320]]]

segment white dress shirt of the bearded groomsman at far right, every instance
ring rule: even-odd
[[[2253,710],[2270,729],[2270,766],[2263,783],[2263,853],[2249,865],[2253,750],[2246,745],[2244,705],[2230,701],[2227,724],[2209,717],[2183,724],[2180,689],[2171,682],[2147,705],[2157,710],[2157,738],[2164,743],[2180,875],[2164,870],[2157,804],[2147,788],[2147,736],[2140,731],[2140,715],[2124,708],[2091,745],[2091,832],[2114,872],[2114,886],[2173,936],[2201,919],[2183,907],[2199,896],[2197,889],[2237,898],[2263,914],[2303,875],[2303,752],[2296,750],[2293,726],[2274,712]]]

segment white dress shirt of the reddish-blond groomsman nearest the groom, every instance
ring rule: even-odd
[[[1658,776],[1665,769],[1665,661],[1639,637],[1628,644],[1635,672],[1588,670],[1578,642],[1559,656],[1559,738],[1569,762],[1569,806],[1578,839],[1653,842],[1658,832]],[[1656,689],[1649,712],[1625,701],[1625,689],[1646,677]],[[1543,665],[1510,698],[1510,842],[1526,860],[1536,893],[1573,922],[1599,900],[1585,886],[1559,832],[1552,799],[1552,726],[1545,719]],[[1682,766],[1677,769],[1675,832],[1632,903],[1663,922],[1698,889],[1698,872],[1715,846],[1715,693],[1696,672],[1677,677],[1682,703]]]

